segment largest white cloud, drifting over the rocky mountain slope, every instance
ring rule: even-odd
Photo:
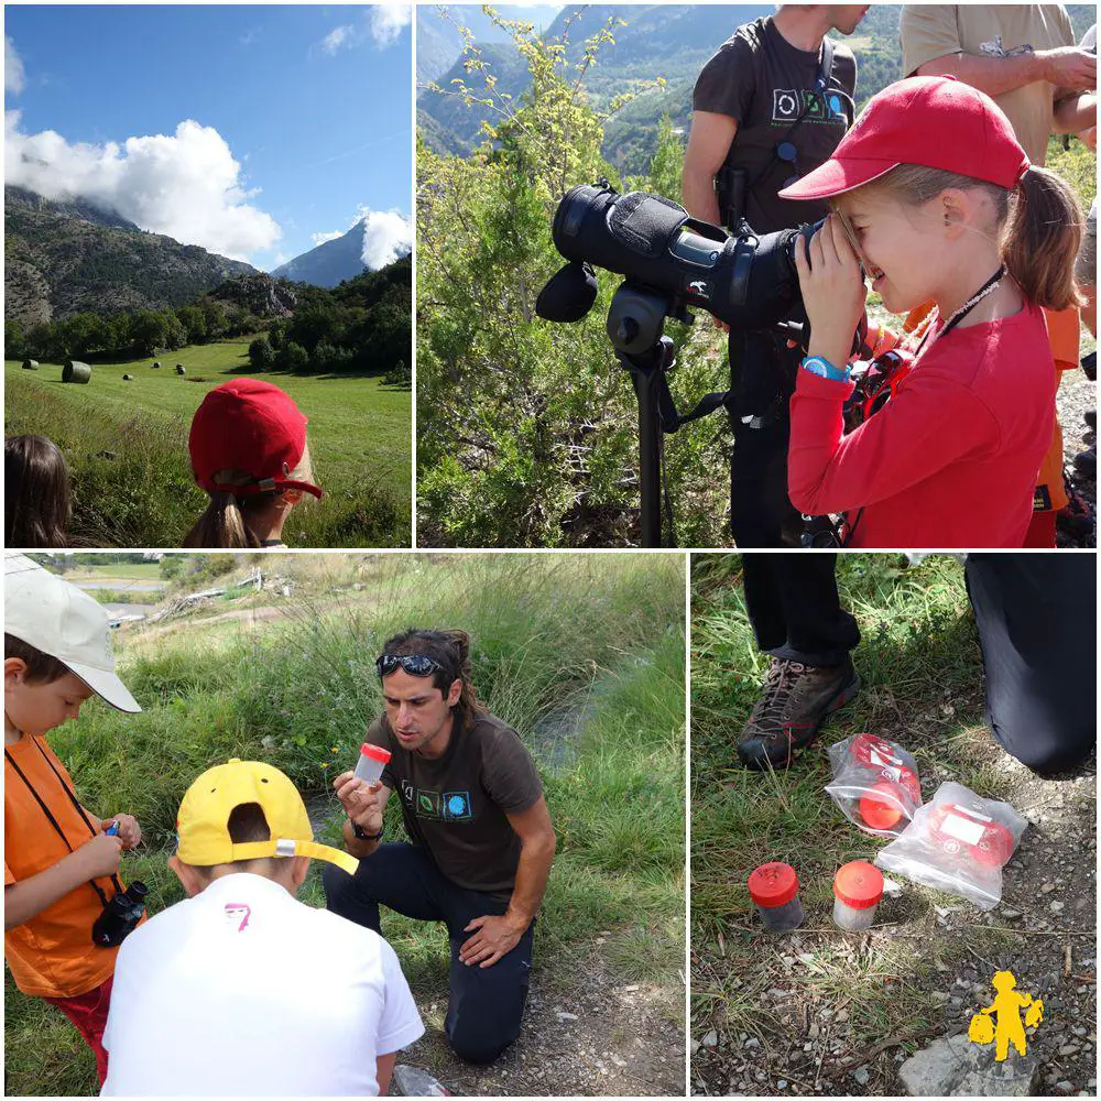
[[[24,134],[21,112],[4,115],[4,183],[47,199],[80,196],[142,229],[233,259],[270,248],[282,235],[250,200],[241,166],[212,127],[186,119],[173,135],[119,145],[69,143],[53,130]]]

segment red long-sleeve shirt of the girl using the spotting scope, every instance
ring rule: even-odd
[[[848,436],[841,408],[853,384],[799,370],[792,503],[810,515],[844,512],[850,524],[863,509],[854,547],[1020,547],[1051,443],[1057,381],[1043,312],[1031,303],[935,340]]]

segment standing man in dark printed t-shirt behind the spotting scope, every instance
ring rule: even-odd
[[[754,232],[771,233],[826,216],[824,203],[776,193],[828,160],[852,123],[855,59],[837,41],[827,56],[822,43],[833,29],[851,34],[868,8],[782,4],[719,47],[693,92],[680,188],[694,218],[733,230],[744,217]],[[717,176],[729,181],[723,210]],[[738,192],[744,201],[735,209]],[[730,334],[730,530],[742,549],[797,545],[803,528],[787,495],[788,400],[799,358],[771,330]]]

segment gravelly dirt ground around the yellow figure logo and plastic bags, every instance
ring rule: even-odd
[[[977,700],[969,702],[973,708]],[[945,701],[908,717],[900,740],[928,743],[960,704]],[[745,975],[745,983],[748,990],[764,990],[755,1018],[764,1024],[756,1034],[713,1028],[694,1034],[693,1093],[904,1093],[898,1065],[935,1036],[966,1034],[971,1015],[991,1003],[990,979],[1001,969],[1014,972],[1020,990],[1045,1001],[1045,1022],[1029,1039],[1029,1055],[1040,1064],[1038,1092],[1097,1093],[1095,764],[1065,778],[1039,780],[983,728],[974,728],[972,752],[988,789],[1028,820],[1004,870],[1001,904],[984,913],[895,876],[901,895],[884,898],[876,925],[865,934],[839,934],[825,911],[808,914],[802,929],[785,936],[763,934],[754,923],[745,931],[752,934],[757,974]],[[953,778],[926,770],[924,798]],[[900,950],[911,967],[892,969],[885,962],[880,979],[898,991],[900,1003],[905,996],[908,1015],[892,1022],[885,1043],[869,1044],[858,1014],[849,1013],[843,984],[840,993],[822,993],[821,961],[828,957],[842,973],[847,961],[853,968],[863,963],[866,972],[869,960],[890,961]],[[693,952],[694,974],[729,968],[729,959]]]

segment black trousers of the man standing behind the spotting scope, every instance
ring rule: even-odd
[[[787,497],[789,421],[784,372],[767,333],[731,333],[730,530],[741,547],[781,547],[798,528]]]

